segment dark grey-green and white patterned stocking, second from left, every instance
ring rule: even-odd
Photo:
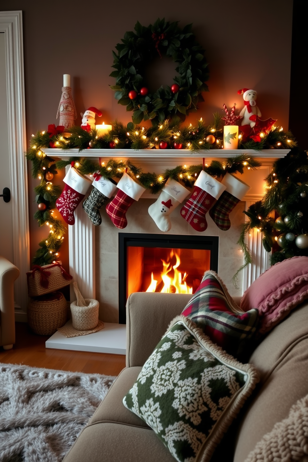
[[[92,191],[89,197],[82,204],[83,209],[89,215],[93,225],[99,226],[102,223],[102,217],[99,209],[104,203],[115,194],[116,184],[104,178],[101,175],[95,175],[92,183]]]

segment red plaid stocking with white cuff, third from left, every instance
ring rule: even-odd
[[[119,188],[115,197],[106,207],[112,223],[120,229],[127,226],[126,213],[133,202],[138,201],[145,188],[136,183],[127,173],[124,173],[116,185]]]

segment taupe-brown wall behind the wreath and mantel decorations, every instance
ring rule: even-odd
[[[4,3],[6,3],[4,5]],[[250,87],[258,91],[262,118],[272,117],[288,128],[290,96],[291,0],[198,1],[184,0],[128,3],[66,0],[47,4],[41,0],[0,2],[1,10],[22,10],[27,136],[55,123],[61,96],[63,74],[71,74],[72,94],[77,113],[89,106],[103,112],[101,120],[131,120],[131,113],[114,99],[115,79],[111,51],[137,20],[145,26],[158,17],[193,23],[193,32],[205,48],[209,62],[209,92],[204,94],[197,114],[211,122],[212,113],[237,103],[237,90]],[[172,71],[171,71],[172,72]],[[76,122],[81,123],[81,117]],[[29,165],[29,170],[30,170]],[[30,173],[29,173],[30,177]],[[61,176],[57,181],[61,184]],[[31,258],[38,242],[46,236],[32,219],[36,211],[33,188],[29,182]],[[66,245],[66,244],[65,244]],[[67,245],[61,249],[67,262]]]

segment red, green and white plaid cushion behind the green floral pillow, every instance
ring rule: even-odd
[[[227,353],[236,356],[255,333],[259,312],[255,308],[246,313],[241,310],[218,275],[206,271],[182,315],[195,322]]]

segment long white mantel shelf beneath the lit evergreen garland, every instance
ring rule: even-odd
[[[54,156],[62,159],[70,157],[89,157],[89,158],[139,158],[143,161],[150,161],[153,163],[162,163],[162,160],[174,161],[175,159],[200,159],[200,158],[229,158],[235,157],[239,154],[250,154],[252,157],[260,159],[275,159],[283,158],[290,152],[290,149],[263,149],[262,151],[255,151],[254,149],[211,149],[200,150],[193,154],[187,149],[140,149],[134,151],[133,149],[43,149],[48,156]]]

